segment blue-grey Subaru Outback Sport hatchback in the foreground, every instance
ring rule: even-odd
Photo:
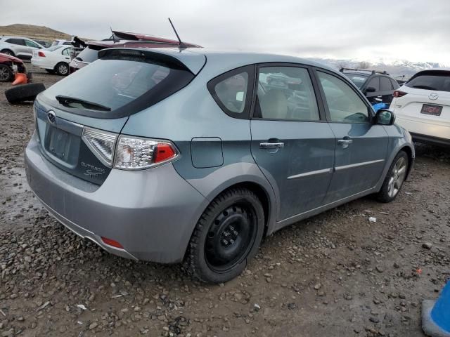
[[[205,49],[105,49],[41,93],[27,180],[110,253],[240,274],[262,238],[367,194],[414,160],[394,114],[323,65]],[[283,79],[283,86],[273,79]]]

